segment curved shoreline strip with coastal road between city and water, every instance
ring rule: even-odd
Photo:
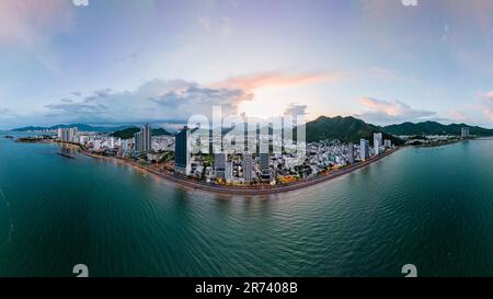
[[[198,182],[198,181],[195,181],[192,179],[177,176],[177,175],[174,175],[171,173],[160,172],[156,169],[152,169],[151,166],[139,164],[136,161],[96,154],[96,153],[90,152],[90,151],[84,150],[81,147],[79,147],[80,152],[87,157],[90,157],[93,159],[99,159],[99,160],[105,160],[105,161],[110,161],[110,162],[116,162],[118,164],[123,164],[123,165],[130,166],[130,168],[134,168],[137,170],[141,170],[141,171],[145,171],[146,173],[156,175],[160,179],[167,180],[169,182],[173,182],[176,185],[182,186],[182,187],[192,188],[192,189],[200,189],[204,192],[222,194],[222,195],[225,195],[225,194],[228,194],[228,195],[266,195],[266,194],[286,193],[286,192],[306,188],[309,186],[313,186],[313,185],[318,185],[318,184],[321,184],[324,182],[332,181],[336,177],[343,176],[345,174],[349,174],[356,170],[364,169],[364,168],[370,165],[371,163],[380,161],[381,159],[394,153],[395,151],[398,151],[402,148],[403,147],[397,147],[397,148],[389,150],[378,157],[370,158],[364,162],[359,162],[357,164],[353,164],[351,166],[347,166],[347,168],[344,168],[341,170],[336,170],[330,174],[319,175],[317,177],[309,179],[309,180],[302,180],[302,181],[298,181],[298,182],[290,183],[290,184],[274,185],[274,186],[263,185],[262,187],[255,187],[255,186],[241,187],[241,186],[222,186],[222,185],[207,184],[207,183]]]

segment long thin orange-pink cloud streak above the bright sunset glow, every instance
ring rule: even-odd
[[[261,88],[298,88],[320,82],[334,82],[342,78],[340,72],[283,73],[278,71],[262,72],[253,76],[233,77],[213,83],[215,88],[233,88],[254,91]]]

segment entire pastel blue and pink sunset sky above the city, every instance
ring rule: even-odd
[[[493,1],[405,2],[1,0],[0,128],[214,105],[493,127]]]

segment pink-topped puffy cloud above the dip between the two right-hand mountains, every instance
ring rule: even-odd
[[[362,97],[359,103],[369,108],[369,111],[356,116],[370,123],[392,124],[436,119],[435,112],[414,110],[410,105],[398,100],[382,101],[372,97]]]

